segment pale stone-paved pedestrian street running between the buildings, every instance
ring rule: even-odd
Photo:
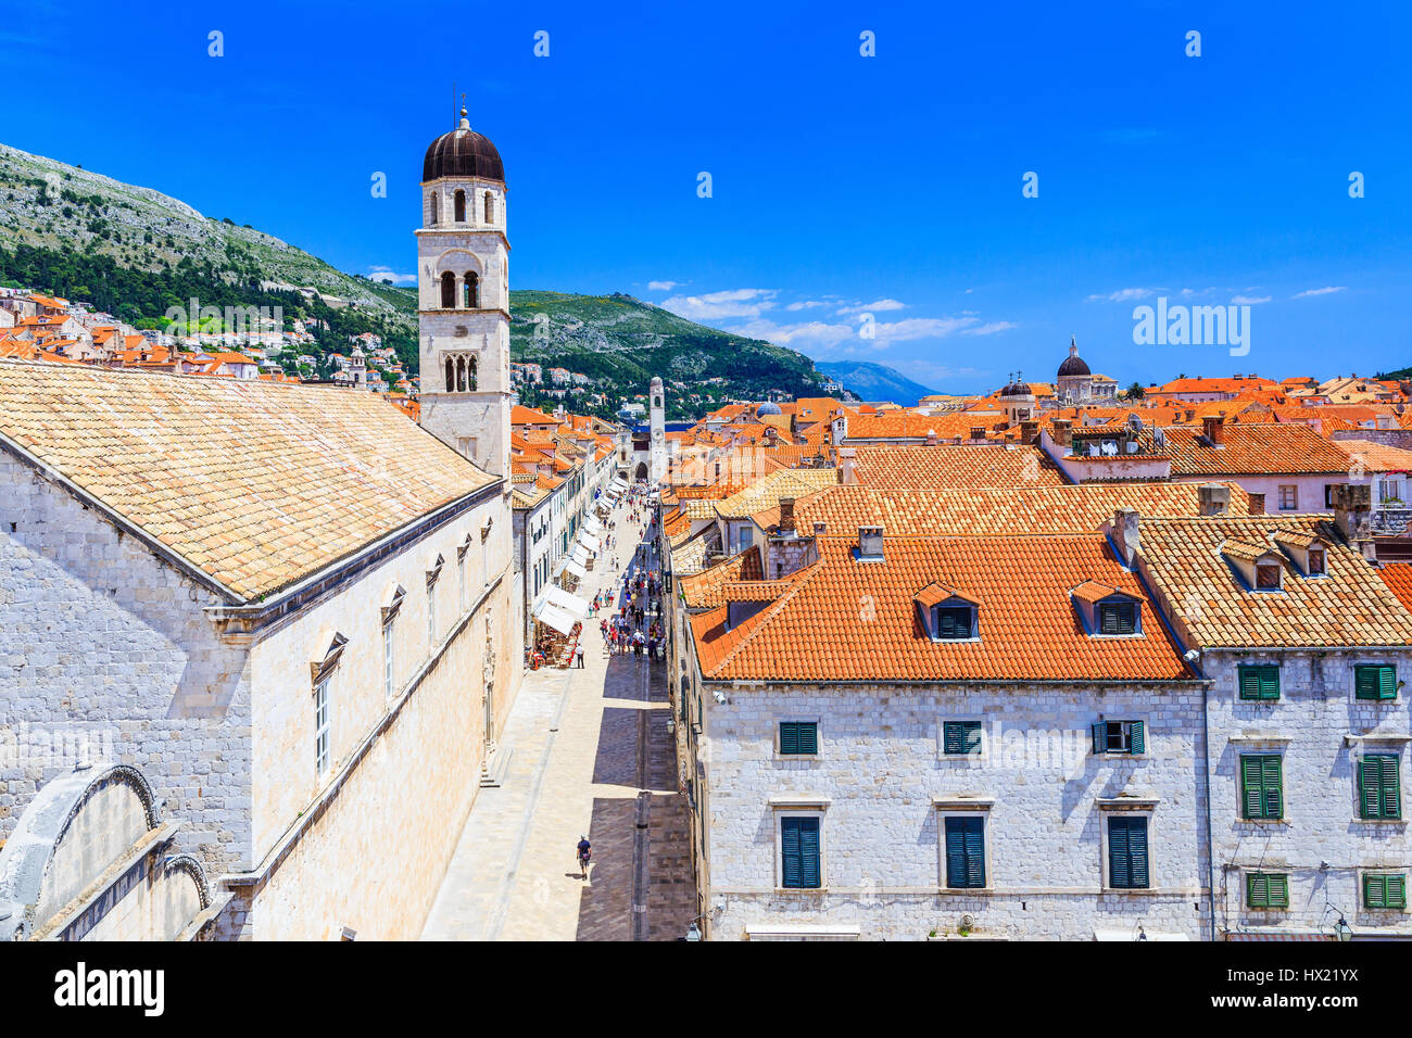
[[[618,510],[623,563],[637,544]],[[606,558],[600,566],[606,563]],[[589,575],[607,587],[611,569]],[[481,789],[424,941],[676,939],[695,915],[688,813],[666,734],[664,664],[609,657],[590,617],[583,669],[525,675],[501,737],[504,784]],[[593,843],[587,881],[575,845]]]

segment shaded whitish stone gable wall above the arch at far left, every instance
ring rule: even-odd
[[[0,837],[90,758],[140,768],[209,874],[250,860],[250,672],[215,595],[0,452]]]

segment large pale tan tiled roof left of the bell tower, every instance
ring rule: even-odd
[[[0,432],[253,600],[493,482],[371,393],[0,362]]]

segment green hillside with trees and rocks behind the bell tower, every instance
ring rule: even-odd
[[[408,253],[414,243],[407,241]],[[0,144],[0,284],[92,304],[140,328],[171,306],[281,306],[321,322],[316,352],[374,332],[417,371],[417,294],[345,274],[287,241],[185,202]],[[777,391],[819,393],[794,350],[693,323],[628,295],[511,291],[511,357],[592,378],[570,410],[609,415],[623,397],[668,386],[671,417]],[[326,325],[326,326],[325,326]],[[548,376],[545,377],[548,383]],[[607,400],[590,407],[589,393]],[[690,400],[695,394],[696,400]],[[527,404],[551,401],[527,388]]]

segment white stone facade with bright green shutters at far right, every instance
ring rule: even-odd
[[[1264,662],[1281,664],[1279,699],[1240,699],[1240,664]],[[1356,699],[1353,692],[1354,667],[1374,662],[1395,664],[1401,681],[1412,676],[1412,648],[1406,647],[1387,652],[1207,651],[1203,655],[1203,671],[1214,679],[1209,768],[1217,922],[1223,929],[1329,932],[1344,914],[1354,932],[1412,933],[1406,912],[1363,908],[1364,870],[1412,876],[1408,823],[1358,818],[1357,761],[1365,751],[1398,754],[1402,813],[1412,818],[1406,801],[1412,767],[1406,689],[1387,703]],[[1389,739],[1348,739],[1370,734]],[[1282,756],[1285,821],[1241,818],[1243,753]],[[1320,867],[1323,863],[1327,867]],[[1261,869],[1289,874],[1289,909],[1245,907],[1245,874]]]

